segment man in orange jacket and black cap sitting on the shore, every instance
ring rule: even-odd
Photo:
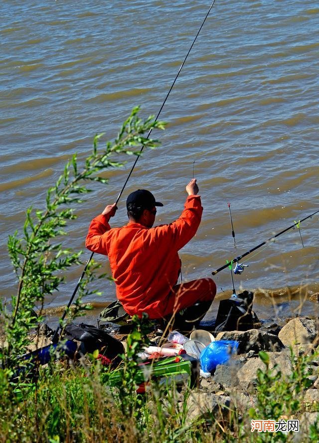
[[[127,225],[110,227],[116,204],[106,206],[90,224],[86,247],[109,257],[117,298],[131,316],[146,312],[150,319],[179,316],[199,322],[215,297],[216,285],[210,278],[176,284],[177,251],[195,235],[203,210],[196,179],[186,192],[184,210],[172,223],[153,227],[156,207],[163,205],[151,192],[139,189],[127,199]]]

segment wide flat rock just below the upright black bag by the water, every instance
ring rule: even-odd
[[[249,352],[250,350],[259,352],[264,350],[279,350],[284,347],[276,335],[257,329],[219,332],[216,340],[237,340],[239,342],[239,354]]]

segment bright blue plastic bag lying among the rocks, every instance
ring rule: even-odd
[[[235,354],[239,342],[235,340],[212,341],[200,353],[200,365],[204,372],[211,372],[218,364],[227,363],[232,354]]]

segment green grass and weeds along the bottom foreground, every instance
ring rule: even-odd
[[[145,332],[145,331],[144,331]],[[149,383],[145,394],[136,392],[137,353],[143,333],[129,339],[123,355],[122,379],[110,386],[109,368],[96,353],[77,362],[51,362],[35,373],[12,382],[12,371],[0,369],[0,442],[291,442],[294,433],[252,433],[250,422],[300,418],[309,410],[303,403],[310,387],[311,367],[318,352],[295,356],[293,370],[284,377],[269,367],[266,352],[260,353],[265,369],[258,371],[254,408],[237,411],[231,403],[219,409],[190,410],[196,389],[167,379]],[[130,355],[128,358],[127,355]],[[194,394],[195,393],[195,394]],[[207,394],[209,396],[209,394]],[[318,404],[312,411],[319,411]],[[302,442],[318,442],[317,425]]]

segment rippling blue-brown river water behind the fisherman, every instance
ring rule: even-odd
[[[2,299],[16,288],[7,236],[23,226],[26,208],[43,207],[66,161],[74,152],[87,156],[96,133],[114,139],[136,105],[142,117],[157,114],[209,6],[1,1]],[[125,199],[137,188],[164,203],[160,223],[177,218],[194,166],[204,213],[181,251],[183,280],[210,276],[226,259],[318,210],[318,103],[318,1],[216,0],[161,112],[167,128],[153,133],[161,146],[139,160],[113,225],[126,222]],[[64,245],[84,248],[91,219],[116,200],[132,162],[107,173],[107,187],[93,187]],[[317,215],[301,224],[305,247],[298,229],[290,230],[247,256],[249,267],[234,276],[237,291],[258,289],[259,317],[318,315],[318,304],[308,300],[319,291],[318,221]],[[82,269],[72,269],[45,301],[53,316]],[[230,271],[214,278],[218,298],[225,297]],[[108,281],[96,287],[104,294],[91,301],[114,300]]]

